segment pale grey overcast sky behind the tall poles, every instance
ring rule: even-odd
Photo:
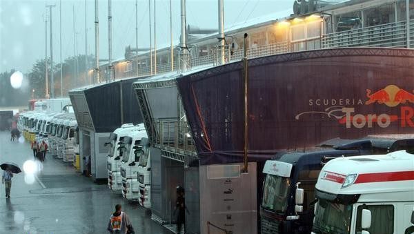
[[[152,23],[153,2],[151,1]],[[45,57],[46,4],[52,8],[53,61],[60,62],[59,8],[61,5],[62,61],[85,54],[85,4],[88,54],[95,54],[95,1],[93,0],[0,0],[0,72],[28,72],[37,59]],[[217,0],[187,0],[187,24],[217,28]],[[293,0],[224,0],[225,28],[275,12],[292,9]],[[73,9],[75,8],[75,38]],[[157,0],[157,47],[170,41],[169,0]],[[179,39],[180,1],[172,0],[173,37]],[[286,15],[285,17],[287,17]],[[277,18],[277,17],[275,17]],[[139,47],[149,46],[148,0],[138,1]],[[48,37],[50,35],[48,23]],[[74,41],[75,48],[74,49]],[[112,0],[112,58],[124,57],[126,46],[135,47],[135,0]],[[50,44],[48,42],[48,56]],[[108,0],[99,1],[99,57],[108,58]]]

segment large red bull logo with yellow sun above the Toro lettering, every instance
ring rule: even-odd
[[[408,92],[402,88],[398,88],[395,85],[386,86],[385,88],[377,90],[373,93],[371,93],[370,89],[367,89],[366,97],[368,97],[368,100],[365,104],[369,105],[377,102],[378,104],[386,104],[386,106],[394,107],[408,102],[414,103],[413,92]]]

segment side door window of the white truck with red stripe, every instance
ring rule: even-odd
[[[394,233],[394,206],[393,205],[371,205],[358,206],[356,233],[361,233],[362,209],[371,211],[371,227],[366,229],[369,233],[393,234]]]

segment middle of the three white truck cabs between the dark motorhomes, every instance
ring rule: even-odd
[[[121,177],[122,177],[122,196],[126,199],[139,199],[139,162],[144,153],[144,148],[148,147],[148,138],[144,124],[130,132],[124,138],[126,152],[121,159]]]

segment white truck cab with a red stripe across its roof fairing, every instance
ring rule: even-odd
[[[412,233],[414,155],[333,159],[319,174],[316,197],[313,234]]]

